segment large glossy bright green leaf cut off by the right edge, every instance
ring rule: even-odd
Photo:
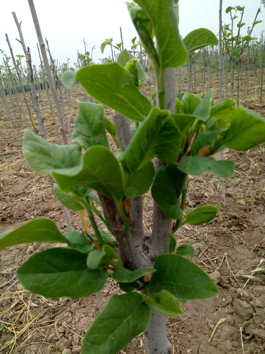
[[[265,118],[245,107],[238,107],[230,118],[230,124],[213,143],[213,151],[221,145],[244,151],[265,141]]]

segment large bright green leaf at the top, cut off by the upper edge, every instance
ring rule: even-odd
[[[173,1],[136,0],[135,2],[151,19],[160,67],[177,68],[185,64],[188,60],[188,53],[178,32]]]

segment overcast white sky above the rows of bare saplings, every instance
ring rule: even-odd
[[[155,1],[155,0],[154,0]],[[225,13],[228,6],[234,6],[230,0],[223,0],[223,23],[230,23],[230,15]],[[242,34],[246,34],[247,26],[251,26],[260,0],[245,0],[245,14]],[[120,26],[122,27],[124,46],[131,46],[131,39],[138,34],[131,22],[124,0],[35,0],[36,12],[39,17],[43,38],[47,38],[52,56],[60,63],[70,58],[70,63],[76,61],[76,51],[83,52],[83,37],[88,48],[95,45],[93,59],[111,55],[110,46],[106,46],[101,54],[100,44],[105,38],[113,37],[113,44],[120,42]],[[22,21],[22,31],[26,47],[31,50],[31,58],[35,65],[39,65],[37,53],[37,37],[31,18],[27,0],[1,0],[0,20],[0,49],[10,54],[5,33],[8,34],[14,54],[23,54],[22,46],[15,40],[18,31],[14,22],[12,11],[16,12],[18,21]],[[265,8],[262,6],[258,20],[263,20],[255,26],[253,35],[260,36],[265,29]],[[205,27],[217,34],[219,28],[219,0],[179,0],[179,29],[184,37],[190,31]],[[238,21],[239,18],[236,19]],[[237,27],[235,27],[237,29]],[[235,33],[236,35],[236,33]],[[88,50],[89,50],[88,49]],[[0,57],[0,62],[2,58]]]

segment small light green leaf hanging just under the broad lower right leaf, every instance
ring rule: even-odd
[[[161,290],[154,297],[145,296],[148,302],[155,310],[168,317],[177,317],[184,315],[178,299],[167,290]]]

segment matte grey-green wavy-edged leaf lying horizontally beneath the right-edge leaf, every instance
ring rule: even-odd
[[[229,178],[233,175],[235,162],[230,160],[215,160],[210,156],[195,157],[186,156],[178,163],[178,169],[188,175],[199,176],[206,171],[212,171],[215,175]]]

